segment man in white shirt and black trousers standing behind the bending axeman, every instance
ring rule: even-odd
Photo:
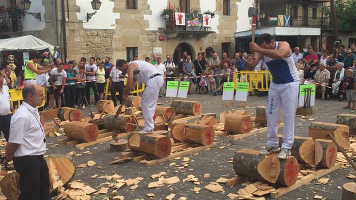
[[[123,75],[123,72],[118,69],[117,66],[111,69],[109,76],[111,99],[114,102],[114,105],[117,106],[116,92],[119,92],[120,104],[123,102],[125,76]]]

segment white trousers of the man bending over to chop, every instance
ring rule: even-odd
[[[157,76],[149,79],[147,81],[145,91],[141,97],[141,109],[143,119],[145,120],[143,124],[143,129],[150,131],[155,128],[155,121],[153,116],[155,114],[155,109],[157,106],[159,90],[163,85],[163,77]]]

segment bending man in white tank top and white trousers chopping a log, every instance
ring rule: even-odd
[[[131,89],[140,81],[146,85],[145,91],[141,97],[141,109],[144,118],[144,124],[139,134],[149,134],[155,129],[153,116],[157,106],[159,89],[163,85],[163,77],[158,69],[149,62],[133,61],[127,63],[125,60],[117,60],[116,66],[123,74],[127,73],[127,84],[123,101],[131,93]]]

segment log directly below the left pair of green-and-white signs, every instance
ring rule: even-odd
[[[174,100],[170,104],[170,107],[174,108],[175,112],[180,114],[186,114],[186,115],[201,114],[201,103],[197,101]]]

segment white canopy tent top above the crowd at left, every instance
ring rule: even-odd
[[[54,55],[53,45],[32,35],[0,39],[0,51],[44,50],[46,48],[48,48],[51,54]]]

